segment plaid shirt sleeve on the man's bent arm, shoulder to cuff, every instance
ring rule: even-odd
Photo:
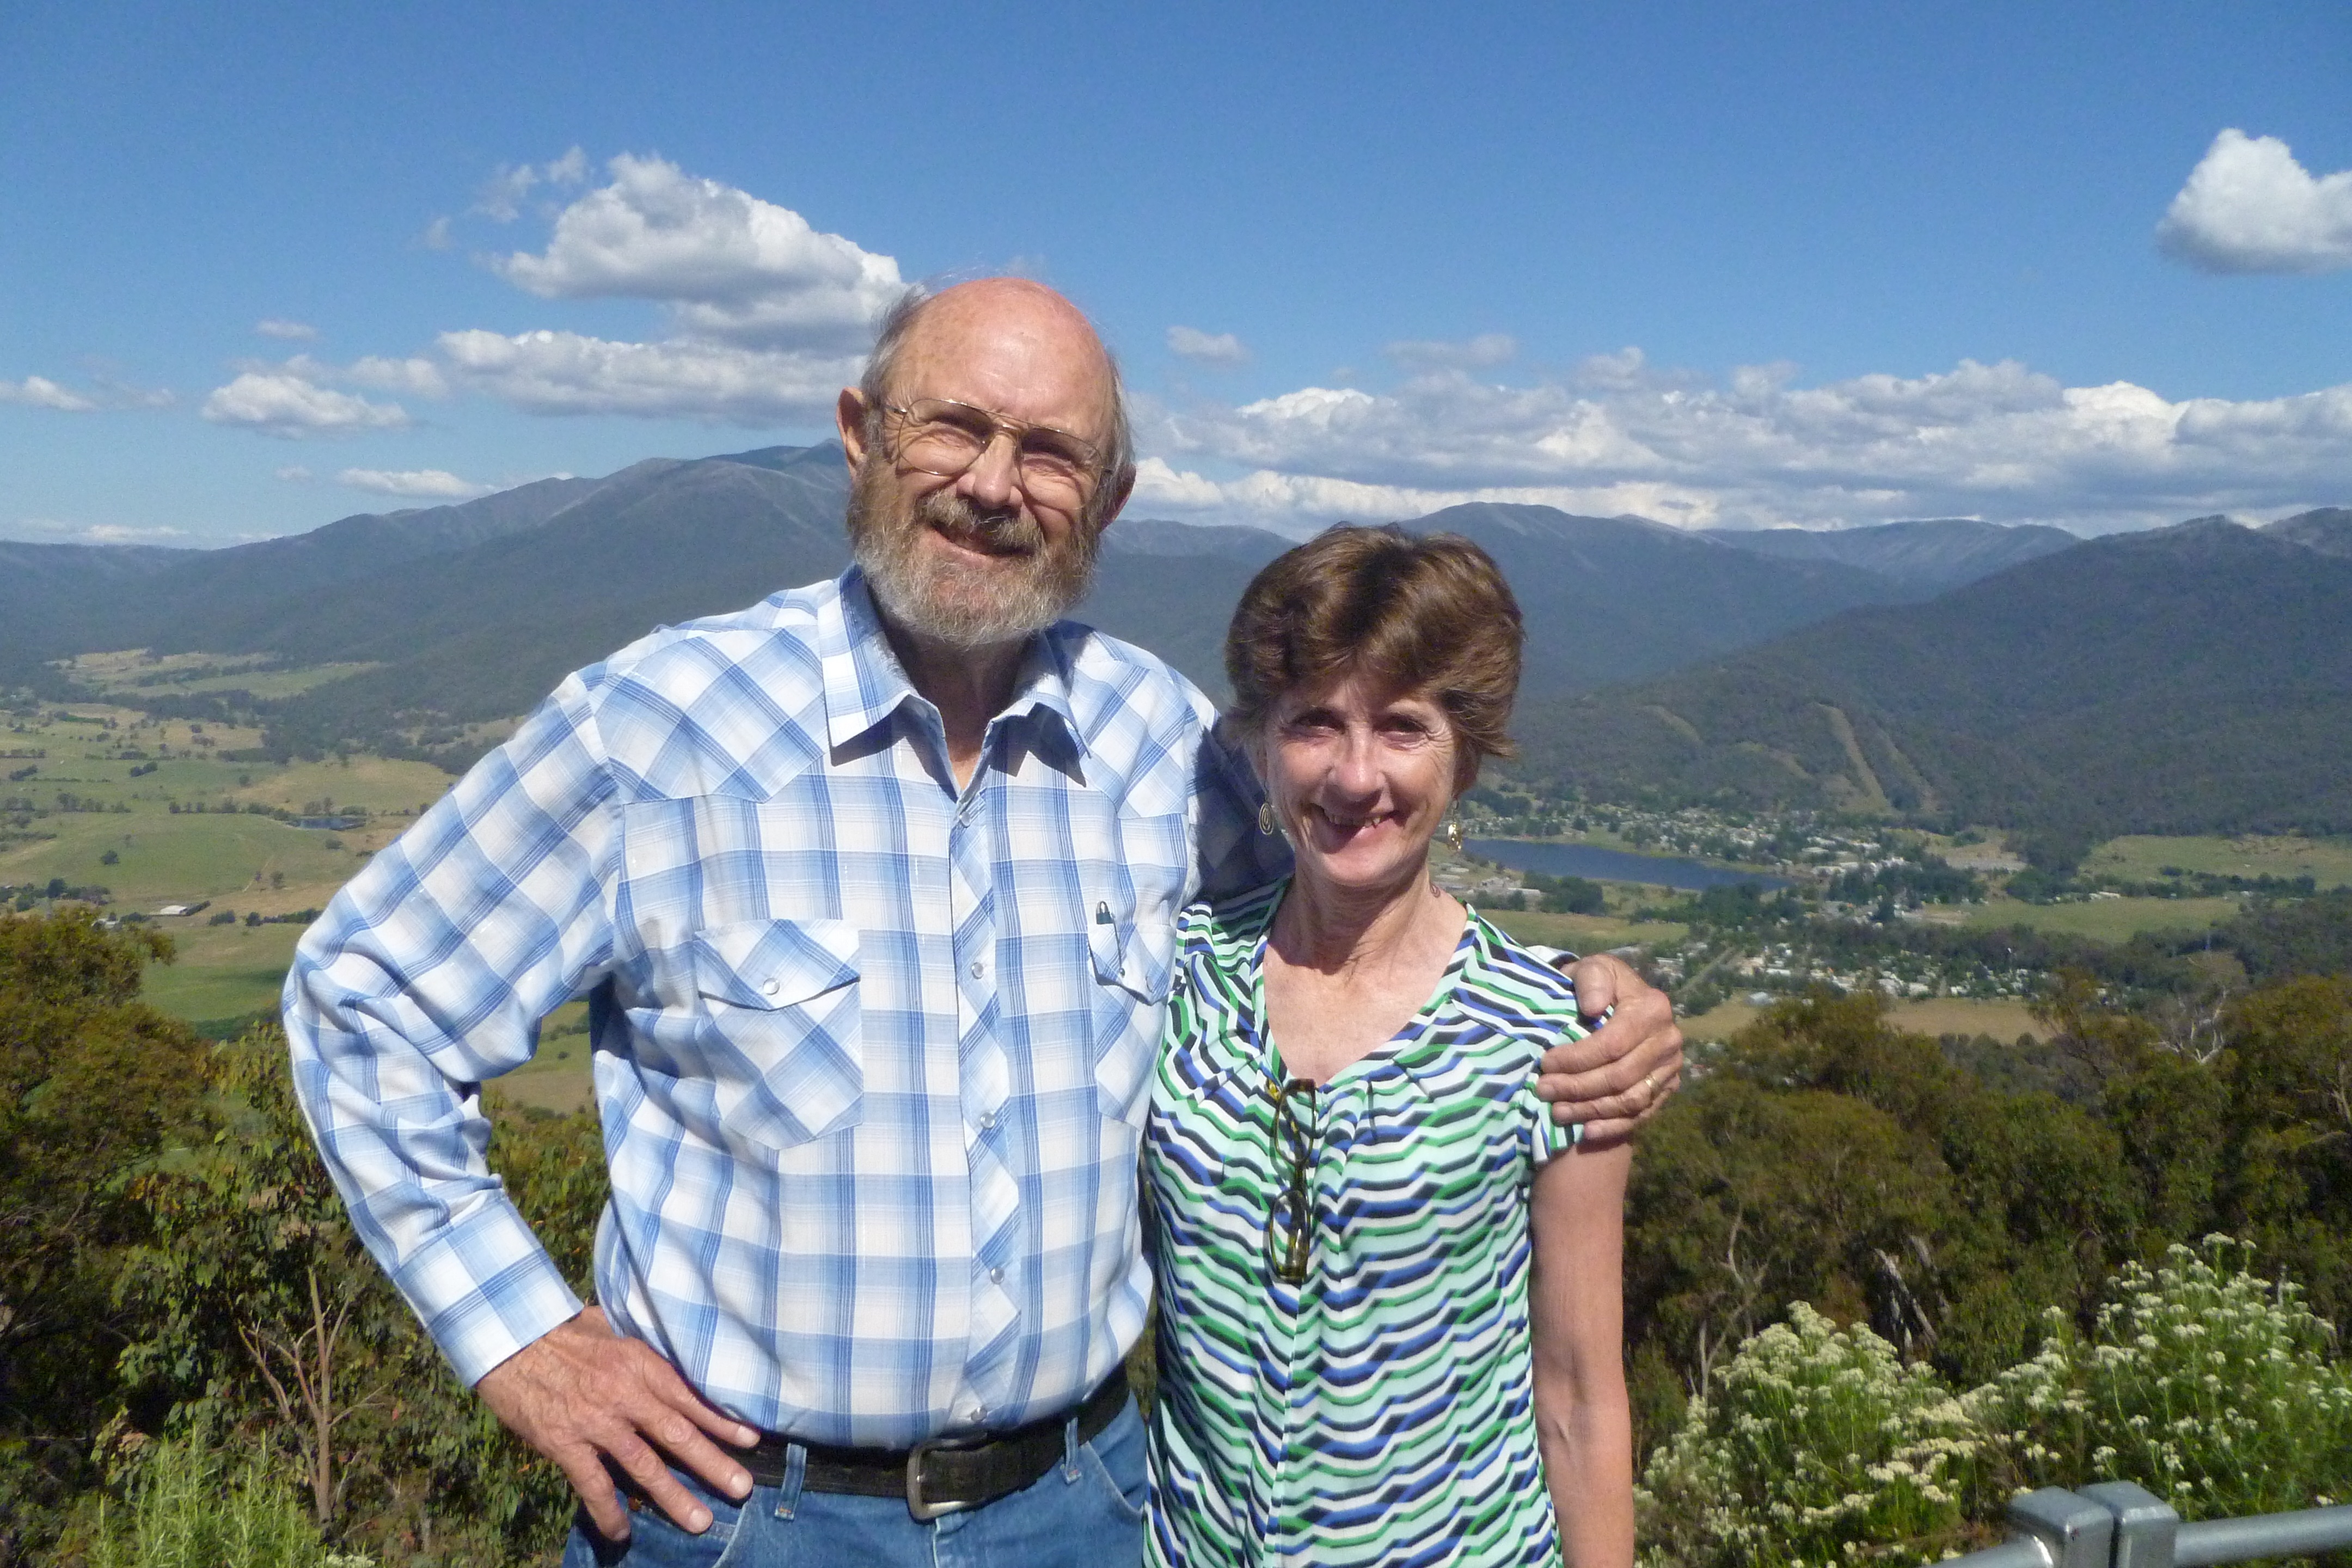
[[[612,964],[612,778],[572,677],[334,896],[287,973],[294,1095],[367,1251],[470,1385],[581,1309],[489,1171],[480,1081]]]

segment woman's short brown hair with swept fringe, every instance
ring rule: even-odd
[[[1468,788],[1486,757],[1515,750],[1524,637],[1503,571],[1468,538],[1341,524],[1242,590],[1225,630],[1228,717],[1256,736],[1284,691],[1371,675],[1446,710]]]

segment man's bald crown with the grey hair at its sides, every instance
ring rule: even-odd
[[[990,329],[1021,334],[1040,353],[1063,360],[1070,369],[1082,362],[1087,371],[1101,376],[1101,421],[1094,430],[1073,430],[1073,435],[1084,435],[1103,454],[1096,496],[1124,494],[1122,477],[1134,468],[1136,442],[1127,418],[1127,386],[1120,381],[1120,364],[1110,357],[1084,310],[1028,277],[978,277],[938,294],[927,294],[917,284],[898,296],[898,303],[882,317],[873,357],[868,357],[866,376],[858,381],[868,444],[880,444],[882,407],[903,402],[901,371],[927,336],[955,339]]]

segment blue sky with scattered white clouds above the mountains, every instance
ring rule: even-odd
[[[1120,350],[1138,515],[2352,503],[2340,0],[16,5],[0,158],[12,538],[814,440],[993,270]]]

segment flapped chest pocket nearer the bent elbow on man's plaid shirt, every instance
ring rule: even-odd
[[[856,1126],[866,1095],[858,929],[748,919],[694,933],[720,1128],[788,1150]]]

